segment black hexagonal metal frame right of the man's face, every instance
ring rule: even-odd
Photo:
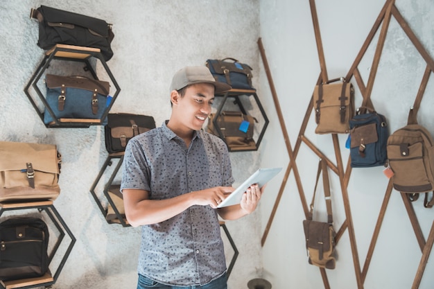
[[[265,134],[266,129],[268,127],[268,117],[267,114],[265,112],[265,110],[263,110],[263,107],[261,105],[261,102],[259,101],[258,95],[256,93],[256,91],[254,90],[241,90],[241,89],[234,89],[232,91],[227,91],[225,94],[222,95],[218,95],[216,94],[216,96],[223,96],[223,100],[220,103],[220,105],[217,108],[217,112],[216,112],[216,117],[214,117],[213,119],[213,124],[214,124],[214,128],[216,128],[216,131],[218,133],[218,136],[220,137],[220,139],[223,139],[223,141],[225,141],[226,145],[227,142],[225,140],[225,136],[223,135],[223,132],[220,130],[220,128],[218,127],[218,118],[220,117],[220,114],[223,110],[223,107],[225,106],[226,100],[230,97],[230,98],[235,98],[234,103],[236,105],[238,105],[238,107],[240,108],[240,111],[243,114],[248,114],[247,111],[245,110],[243,104],[241,103],[241,100],[239,98],[239,96],[253,96],[254,100],[256,101],[258,107],[259,107],[259,111],[261,112],[261,115],[263,116],[263,119],[265,121],[263,128],[261,129],[261,132],[259,133],[259,137],[257,139],[257,141],[255,141],[256,144],[256,148],[255,149],[239,149],[237,148],[236,150],[233,150],[232,148],[230,148],[229,146],[227,146],[227,149],[229,150],[229,152],[245,152],[245,151],[250,151],[250,150],[258,150],[259,145],[261,144],[262,138],[263,138],[263,134]]]

